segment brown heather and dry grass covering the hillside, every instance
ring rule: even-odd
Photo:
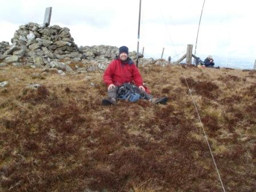
[[[99,72],[0,68],[0,191],[222,191],[187,83],[226,191],[255,191],[255,71],[140,70],[167,105],[102,106]]]

